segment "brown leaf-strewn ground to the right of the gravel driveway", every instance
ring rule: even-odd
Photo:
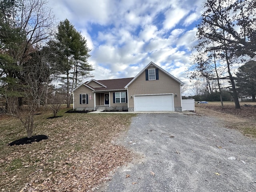
[[[251,105],[251,106],[244,106]],[[234,102],[196,104],[196,113],[218,118],[226,127],[237,129],[244,135],[256,138],[256,102],[240,102],[241,109],[235,109]]]

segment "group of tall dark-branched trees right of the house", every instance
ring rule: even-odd
[[[256,2],[205,0],[204,8],[192,51],[191,78],[206,82],[210,94],[214,82],[222,106],[226,90],[240,108],[238,93],[255,101]],[[238,69],[240,63],[245,64]]]

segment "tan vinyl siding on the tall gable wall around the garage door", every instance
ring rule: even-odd
[[[149,66],[149,68],[155,68]],[[146,81],[144,71],[132,84],[128,86],[128,108],[134,108],[134,95],[143,94],[173,94],[174,107],[181,107],[180,83],[158,70],[159,80]],[[175,96],[177,94],[177,96]],[[131,96],[133,96],[131,98]]]

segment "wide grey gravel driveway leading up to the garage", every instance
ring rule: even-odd
[[[118,144],[139,158],[116,170],[100,191],[256,191],[256,140],[212,118],[138,114]]]

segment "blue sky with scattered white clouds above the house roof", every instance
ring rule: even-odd
[[[191,86],[188,67],[203,0],[50,0],[87,40],[94,79],[136,76],[151,61]],[[184,95],[190,95],[188,90]]]

